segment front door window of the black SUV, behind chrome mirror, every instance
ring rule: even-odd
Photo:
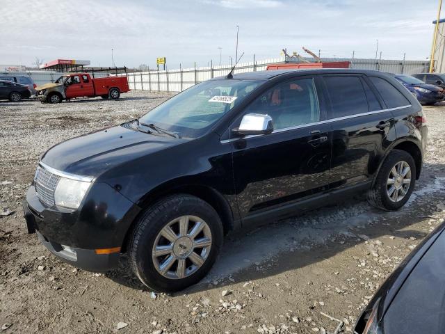
[[[313,79],[286,81],[266,90],[244,111],[268,114],[274,129],[296,127],[320,120]]]

